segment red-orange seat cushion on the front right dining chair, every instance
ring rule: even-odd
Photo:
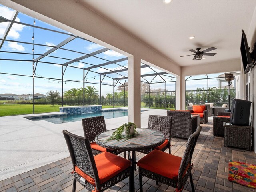
[[[167,178],[178,180],[181,160],[181,157],[160,150],[153,150],[138,161],[138,166]],[[189,166],[186,168],[184,174]]]

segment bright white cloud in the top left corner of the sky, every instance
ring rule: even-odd
[[[0,6],[0,12],[1,12],[1,16],[3,16],[6,19],[12,19],[14,14],[16,13],[16,11],[10,10],[9,8],[7,8],[5,6]],[[20,22],[20,19],[17,17],[15,21]],[[1,37],[4,35],[4,32],[6,31],[6,28],[9,25],[10,25],[10,22],[1,23],[1,25],[0,25],[0,36]],[[21,32],[24,27],[25,27],[24,25],[14,23],[12,25],[11,30],[8,33],[8,38],[13,38],[13,39],[20,38],[19,32]]]

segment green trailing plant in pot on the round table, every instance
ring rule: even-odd
[[[134,126],[134,133],[130,134],[131,126]],[[122,133],[125,132],[126,134],[123,135]],[[121,139],[130,139],[134,136],[138,135],[138,132],[136,131],[136,125],[132,122],[128,122],[125,124],[122,124],[120,127],[118,127],[112,134],[110,138],[107,139],[107,141],[116,139],[117,141],[120,141]]]

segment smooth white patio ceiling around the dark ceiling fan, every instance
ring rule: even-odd
[[[176,64],[189,66],[240,58],[242,29],[248,31],[256,0],[83,0]],[[193,40],[189,36],[195,36]],[[188,49],[210,47],[215,56],[192,60]]]

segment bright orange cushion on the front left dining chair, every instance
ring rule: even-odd
[[[103,184],[110,178],[131,166],[131,162],[129,160],[109,152],[103,152],[94,156],[94,160],[98,170],[100,184]],[[80,170],[77,166],[75,167],[75,171],[86,181],[95,186],[94,179]]]

